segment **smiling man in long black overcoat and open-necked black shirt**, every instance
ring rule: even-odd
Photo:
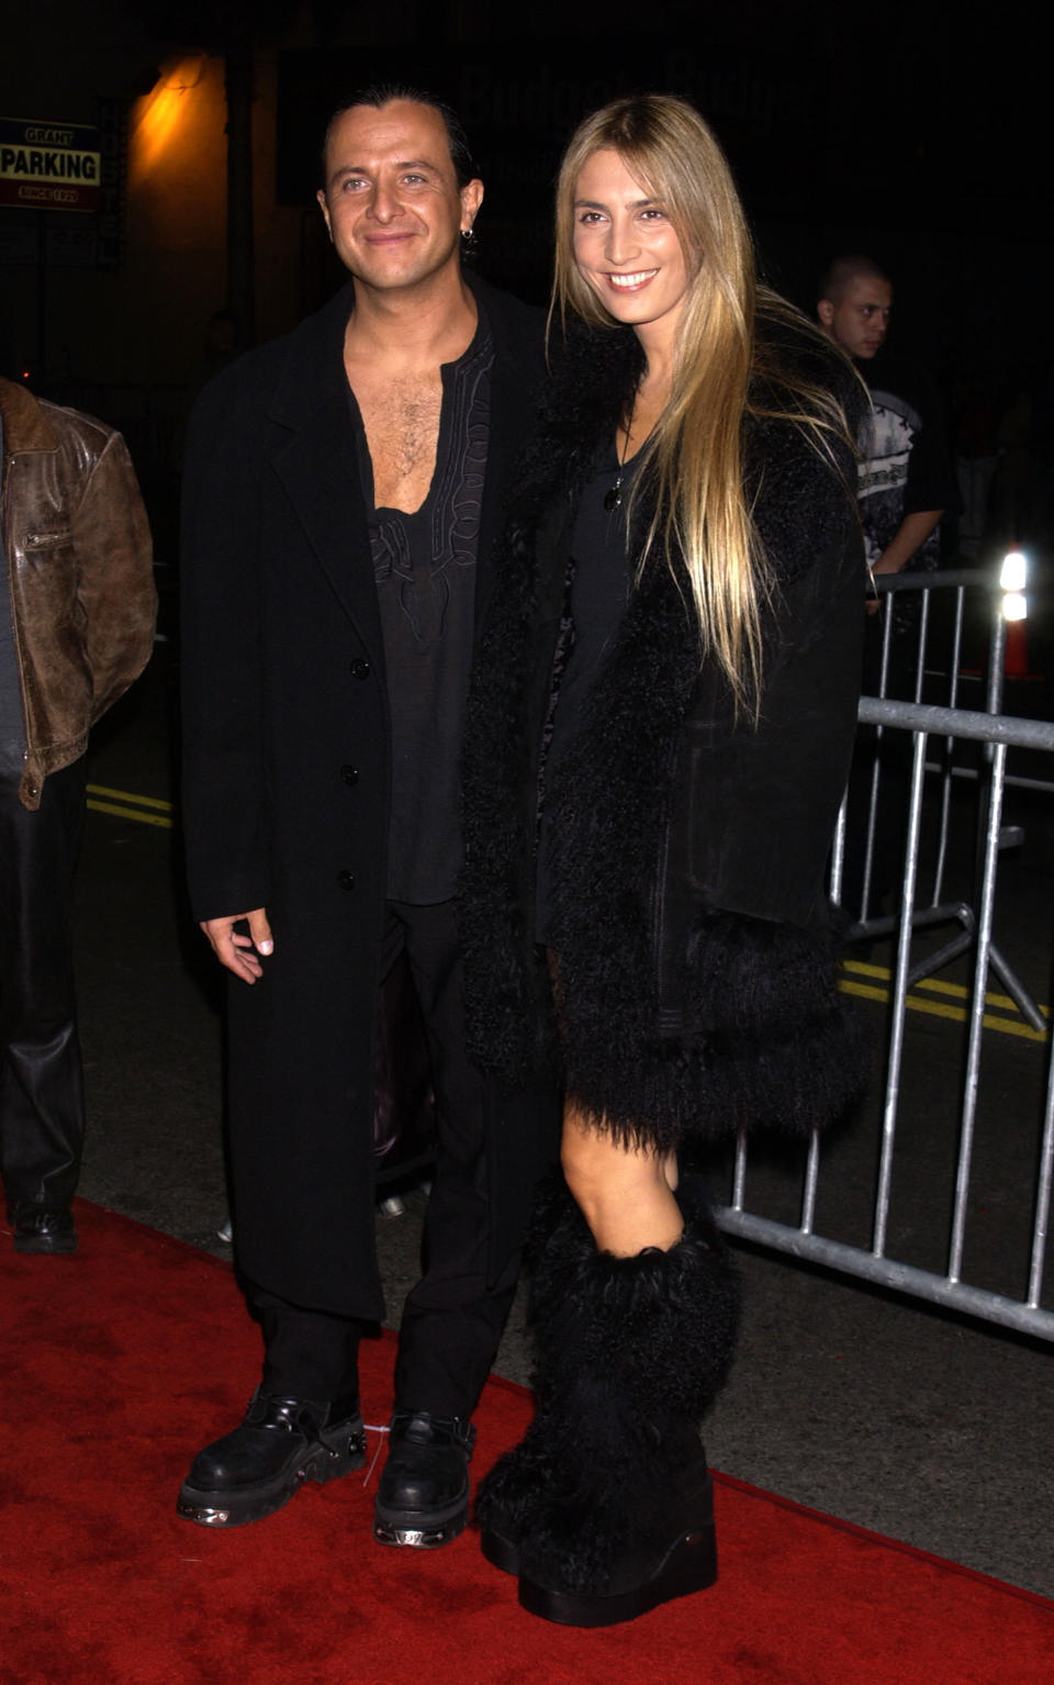
[[[470,1424],[556,1107],[465,1051],[458,755],[488,549],[542,377],[542,313],[461,271],[483,195],[456,118],[377,89],[318,194],[352,280],[199,399],[185,463],[185,831],[229,979],[237,1264],[261,1321],[244,1422],[180,1513],[237,1525],[364,1459],[357,1343],[384,1314],[372,1038],[406,954],[438,1110],[374,1532],[466,1518]]]

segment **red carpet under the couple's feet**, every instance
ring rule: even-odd
[[[256,1331],[231,1272],[79,1206],[81,1254],[0,1235],[3,1685],[1041,1685],[1054,1604],[721,1479],[719,1584],[599,1633],[524,1614],[473,1533],[369,1535],[362,1474],[256,1527],[180,1522],[202,1441],[241,1414]],[[386,1420],[392,1341],[364,1350]],[[520,1432],[493,1382],[476,1464]],[[375,1444],[375,1436],[370,1436]]]

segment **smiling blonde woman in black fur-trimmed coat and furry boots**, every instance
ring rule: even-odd
[[[716,1577],[699,1422],[736,1274],[679,1149],[806,1134],[859,1060],[823,868],[855,721],[854,376],[758,288],[702,118],[620,99],[557,185],[554,379],[466,752],[475,1053],[556,1062],[532,1245],[537,1412],[483,1483],[535,1614],[630,1619]]]

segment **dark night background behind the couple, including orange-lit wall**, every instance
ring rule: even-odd
[[[936,376],[956,455],[995,462],[990,551],[1049,548],[1049,93],[1020,0],[40,0],[5,27],[0,118],[116,113],[120,185],[106,219],[0,204],[0,366],[121,426],[160,551],[202,381],[342,280],[318,142],[377,79],[461,111],[487,182],[476,263],[537,302],[576,120],[631,89],[687,94],[729,155],[764,278],[812,312],[835,253],[876,256],[891,347]]]

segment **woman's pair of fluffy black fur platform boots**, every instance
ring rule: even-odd
[[[699,1422],[732,1358],[739,1294],[705,1198],[679,1191],[668,1252],[599,1254],[574,1201],[549,1208],[532,1323],[537,1414],[483,1483],[490,1560],[520,1602],[574,1626],[633,1619],[716,1577]]]

